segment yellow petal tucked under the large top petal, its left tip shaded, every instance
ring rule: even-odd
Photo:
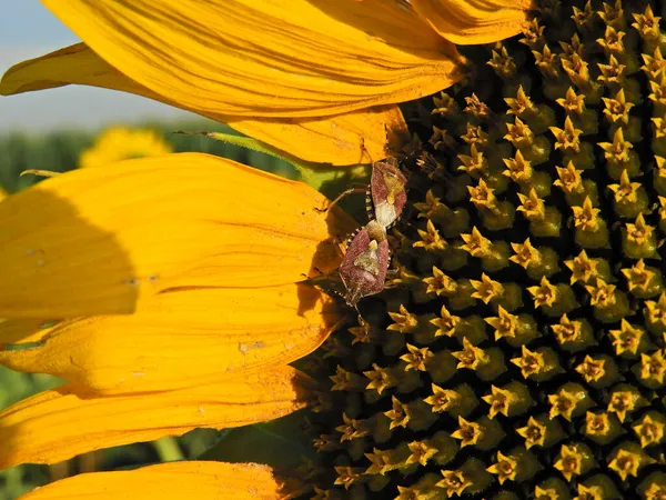
[[[133,82],[83,43],[12,67],[0,82],[0,93],[21,93],[69,83],[122,90],[189,109],[213,120],[232,120],[230,124],[242,133],[295,157],[321,163],[367,163],[370,159],[363,156],[364,148],[367,154],[377,161],[386,156],[386,130],[396,134],[406,130],[405,121],[396,106],[376,107],[320,119],[229,119],[220,113],[203,112],[184,107]]]

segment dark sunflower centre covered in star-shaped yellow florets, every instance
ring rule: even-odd
[[[662,9],[543,4],[414,106],[437,168],[313,363],[315,498],[666,499]]]

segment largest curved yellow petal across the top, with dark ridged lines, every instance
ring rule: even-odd
[[[204,114],[332,116],[460,78],[455,48],[402,0],[43,3],[130,79]]]

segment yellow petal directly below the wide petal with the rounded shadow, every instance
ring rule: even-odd
[[[339,320],[334,300],[305,284],[174,289],[133,314],[63,321],[41,334],[39,347],[0,350],[0,363],[103,393],[195,387],[214,373],[261,373],[295,361]]]

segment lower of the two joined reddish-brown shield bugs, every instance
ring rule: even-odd
[[[339,273],[346,288],[344,300],[347,304],[356,308],[362,298],[384,289],[390,260],[386,229],[371,220],[352,238],[340,264]]]

